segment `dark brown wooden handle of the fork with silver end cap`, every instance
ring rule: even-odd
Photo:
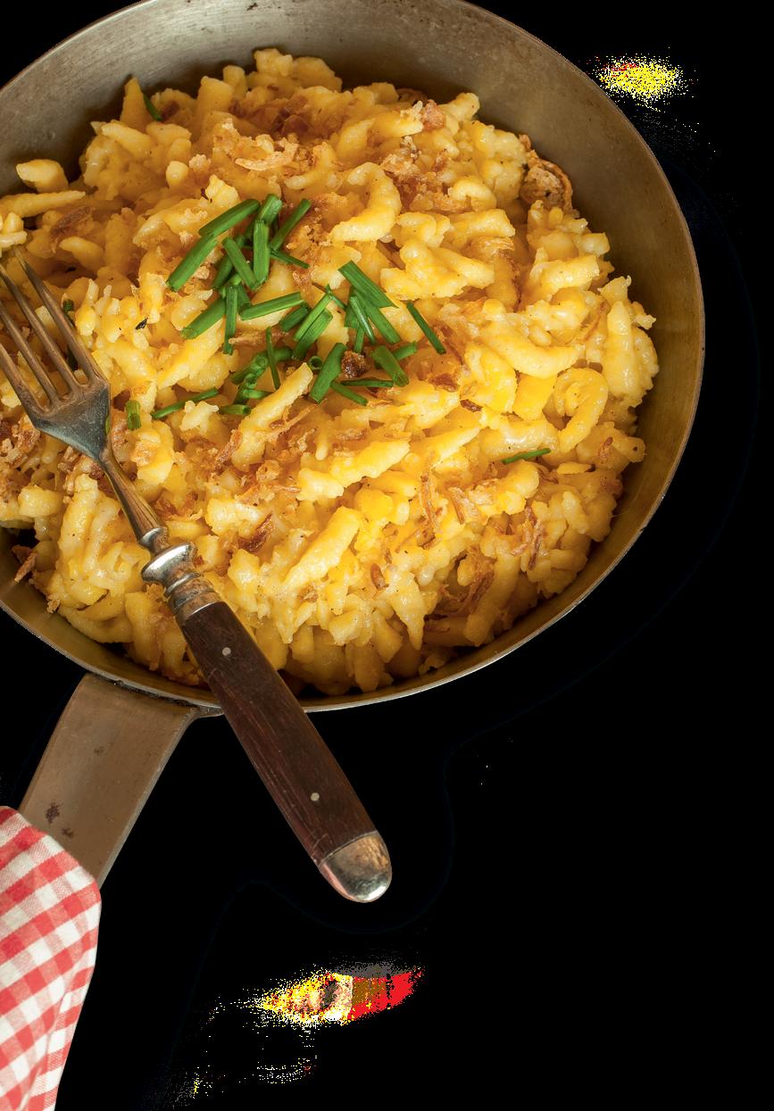
[[[391,878],[385,843],[298,700],[225,602],[190,610],[177,614],[186,640],[294,833],[340,894],[378,899]]]

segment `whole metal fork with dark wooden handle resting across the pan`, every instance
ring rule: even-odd
[[[169,532],[123,473],[110,443],[110,388],[56,297],[16,250],[14,258],[83,373],[68,364],[27,297],[0,264],[0,278],[38,338],[64,387],[0,301],[0,321],[34,376],[36,397],[0,343],[0,367],[27,414],[47,432],[98,463],[150,559],[142,578],[160,583],[234,732],[288,824],[321,874],[339,894],[373,902],[389,887],[387,848],[363,803],[299,702],[229,607],[194,567],[191,543],[171,543]]]

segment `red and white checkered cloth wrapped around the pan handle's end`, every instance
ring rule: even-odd
[[[0,1109],[49,1111],[89,989],[93,878],[52,837],[0,807]]]

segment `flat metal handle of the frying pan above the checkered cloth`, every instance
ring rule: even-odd
[[[175,745],[202,712],[85,675],[19,810],[101,885]]]

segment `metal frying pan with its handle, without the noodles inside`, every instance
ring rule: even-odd
[[[145,89],[194,92],[226,63],[250,67],[276,46],[325,60],[348,86],[389,81],[437,101],[460,90],[479,117],[527,132],[574,184],[592,229],[607,232],[618,273],[656,317],[661,372],[639,411],[647,458],[625,473],[613,528],[562,594],[508,632],[429,675],[369,694],[301,700],[307,712],[401,698],[449,682],[513,652],[577,605],[651,520],[693,422],[704,354],[696,259],[679,206],[652,152],[616,106],[556,51],[463,0],[142,0],[54,47],[0,90],[0,194],[19,190],[14,164],[56,158],[70,177],[91,120],[120,110],[127,77]],[[62,107],[64,106],[64,107]],[[148,671],[49,613],[28,582],[13,582],[13,538],[0,529],[0,605],[29,632],[86,669],[22,801],[102,881],[187,725],[218,705]]]

